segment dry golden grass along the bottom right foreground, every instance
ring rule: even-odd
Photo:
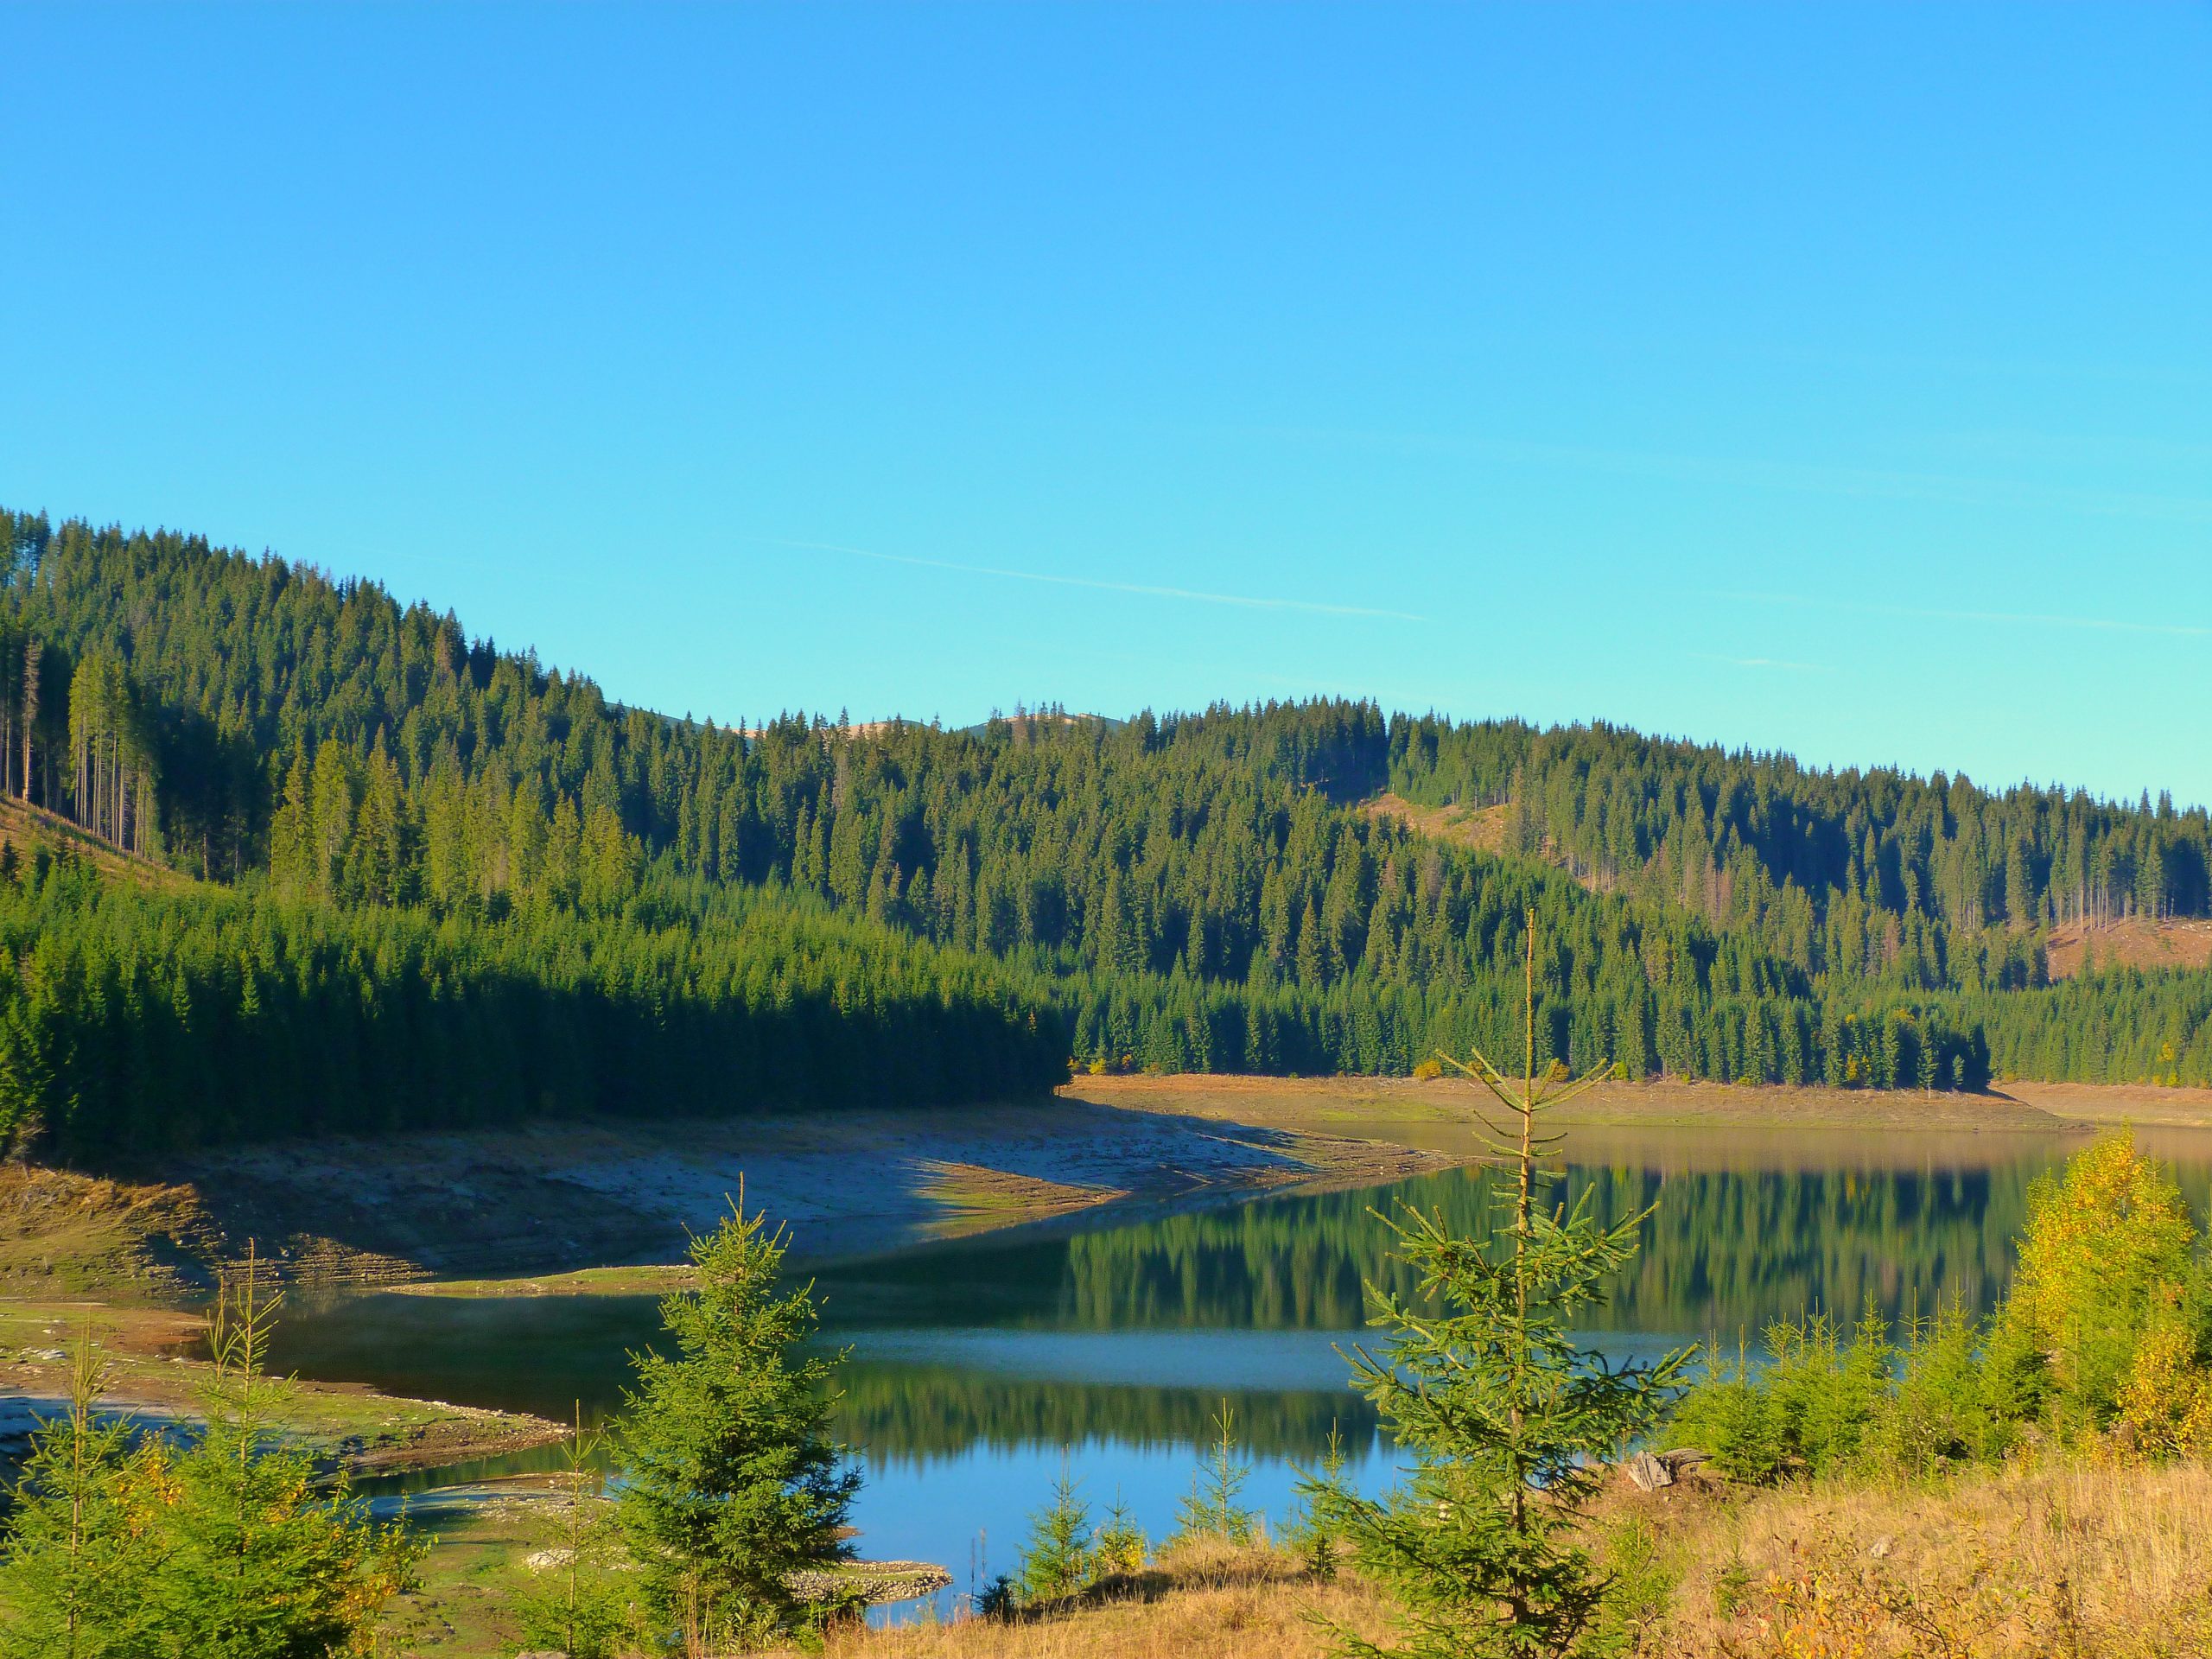
[[[2212,1467],[2008,1469],[1936,1491],[1690,1482],[1615,1493],[1670,1582],[1641,1659],[2201,1659],[2212,1655]],[[1170,1555],[1037,1619],[834,1637],[834,1659],[1305,1659],[1310,1615],[1383,1637],[1387,1601],[1274,1551]]]

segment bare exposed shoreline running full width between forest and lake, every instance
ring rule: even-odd
[[[0,1166],[0,1298],[190,1307],[257,1241],[281,1283],[407,1294],[653,1294],[739,1201],[827,1265],[1113,1212],[1327,1190],[1484,1157],[1464,1079],[1110,1075],[964,1108],[765,1113],[659,1124],[223,1148],[126,1181]],[[1916,1161],[1958,1135],[2212,1128],[2212,1088],[2008,1082],[1982,1095],[1599,1084],[1559,1128],[1663,1161],[1829,1133]],[[1730,1137],[1679,1130],[1730,1130]],[[1674,1137],[1668,1141],[1668,1137]],[[0,1383],[4,1391],[4,1383]]]

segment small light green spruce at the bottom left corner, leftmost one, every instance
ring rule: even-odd
[[[104,1378],[86,1329],[69,1367],[69,1407],[40,1420],[15,1482],[0,1551],[0,1652],[15,1659],[119,1659],[146,1650],[148,1562],[122,1502],[133,1429],[93,1411]]]

